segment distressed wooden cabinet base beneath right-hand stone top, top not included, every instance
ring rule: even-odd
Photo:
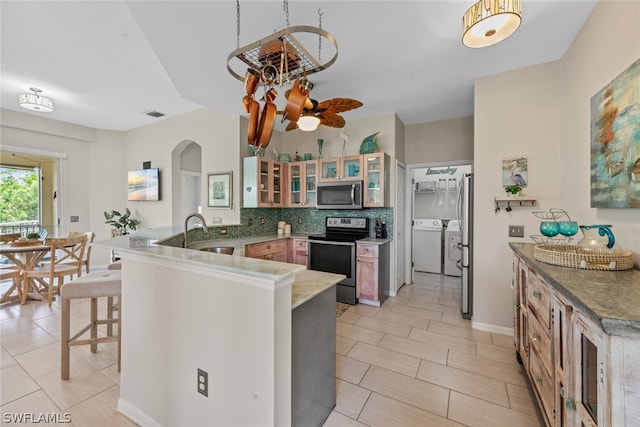
[[[517,255],[514,285],[517,356],[546,425],[640,425],[637,334],[607,334]]]

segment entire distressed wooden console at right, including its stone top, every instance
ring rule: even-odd
[[[547,426],[640,425],[640,271],[552,266],[510,246],[516,353]]]

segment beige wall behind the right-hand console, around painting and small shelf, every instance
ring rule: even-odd
[[[534,210],[566,209],[580,224],[613,224],[620,246],[640,259],[638,209],[590,208],[590,98],[640,56],[640,3],[600,2],[560,61],[493,75],[475,85],[475,327],[513,322],[509,224],[539,234]],[[501,159],[528,156],[535,208],[494,213]],[[528,241],[511,239],[513,241]]]

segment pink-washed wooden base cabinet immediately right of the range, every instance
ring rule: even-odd
[[[389,241],[356,243],[356,298],[380,306],[389,295]]]

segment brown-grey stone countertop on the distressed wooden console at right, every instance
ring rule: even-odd
[[[640,335],[640,271],[561,267],[536,260],[533,243],[509,246],[577,309],[599,321],[606,333]]]

